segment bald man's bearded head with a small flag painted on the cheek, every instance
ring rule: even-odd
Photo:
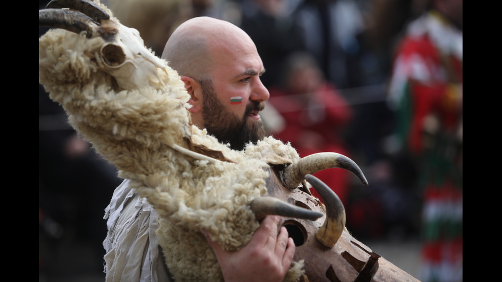
[[[192,124],[239,150],[263,138],[258,113],[269,97],[260,80],[265,68],[242,29],[211,17],[189,19],[173,32],[162,58],[190,94]]]

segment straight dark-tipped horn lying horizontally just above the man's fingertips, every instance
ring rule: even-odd
[[[323,215],[322,212],[298,207],[270,196],[259,197],[253,200],[251,210],[255,213],[257,220],[262,220],[268,214],[275,214],[314,221]]]

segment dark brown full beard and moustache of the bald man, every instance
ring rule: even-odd
[[[229,143],[234,150],[242,150],[247,143],[256,143],[265,137],[265,128],[261,120],[248,124],[249,114],[263,110],[265,107],[263,103],[249,101],[244,116],[239,119],[218,100],[212,80],[201,79],[199,83],[204,97],[202,118],[207,133],[224,144]]]

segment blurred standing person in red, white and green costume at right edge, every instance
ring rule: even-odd
[[[463,280],[462,0],[431,0],[395,54],[390,99],[423,192],[422,281]]]

